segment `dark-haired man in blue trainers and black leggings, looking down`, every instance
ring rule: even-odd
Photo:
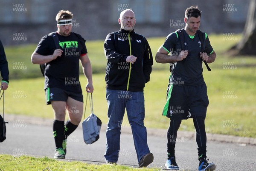
[[[198,145],[199,171],[215,170],[206,156],[207,137],[204,120],[207,106],[207,86],[203,78],[202,62],[206,65],[215,61],[216,54],[206,33],[199,31],[201,11],[191,6],[185,11],[185,28],[169,34],[158,49],[156,62],[171,63],[171,76],[167,90],[167,102],[163,115],[170,118],[167,131],[166,168],[179,169],[175,160],[177,130],[183,119],[193,118]],[[202,36],[203,35],[203,36]],[[168,55],[170,54],[170,55]],[[207,69],[209,69],[207,65]]]

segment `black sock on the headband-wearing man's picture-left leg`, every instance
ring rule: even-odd
[[[56,149],[62,148],[62,141],[64,139],[64,121],[54,120],[52,129]]]

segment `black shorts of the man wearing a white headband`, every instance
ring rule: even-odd
[[[57,87],[45,89],[46,104],[51,104],[51,101],[67,101],[68,97],[83,102],[82,93],[70,92]]]

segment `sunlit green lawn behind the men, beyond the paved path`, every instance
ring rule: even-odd
[[[211,44],[217,53],[216,61],[204,67],[204,79],[208,87],[209,107],[207,110],[206,129],[209,133],[256,137],[253,118],[256,116],[256,56],[226,56],[225,50],[234,45],[237,40],[226,41],[222,35],[209,35]],[[153,56],[163,44],[164,37],[148,39]],[[30,115],[43,118],[53,118],[52,108],[45,104],[44,78],[39,66],[30,62],[30,55],[36,45],[7,47],[6,55],[9,61],[10,84],[6,91],[5,112],[17,115]],[[107,102],[105,100],[105,65],[103,41],[88,41],[88,55],[93,66],[94,113],[107,123]],[[18,55],[19,54],[19,55]],[[12,62],[24,62],[26,70],[13,70]],[[225,69],[233,67],[233,69]],[[154,62],[151,80],[146,84],[145,95],[145,125],[151,128],[167,129],[169,119],[161,115],[166,102],[166,87],[169,78],[169,64]],[[35,78],[38,77],[38,78]],[[20,79],[14,79],[20,78]],[[86,79],[81,76],[81,86],[86,85]],[[227,96],[225,96],[225,92]],[[85,94],[84,94],[85,95]],[[227,97],[227,98],[225,98]],[[85,99],[85,98],[84,98]],[[87,110],[89,115],[89,109]],[[127,120],[127,117],[125,117]],[[125,122],[128,123],[128,122]],[[183,121],[180,130],[194,131],[192,120]]]

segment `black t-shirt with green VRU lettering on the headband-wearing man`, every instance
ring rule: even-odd
[[[87,53],[84,39],[71,32],[70,36],[57,33],[62,55],[46,64],[44,89],[58,87],[67,91],[82,92],[79,82],[79,59]],[[52,55],[55,50],[52,36],[46,35],[39,42],[35,52]]]

